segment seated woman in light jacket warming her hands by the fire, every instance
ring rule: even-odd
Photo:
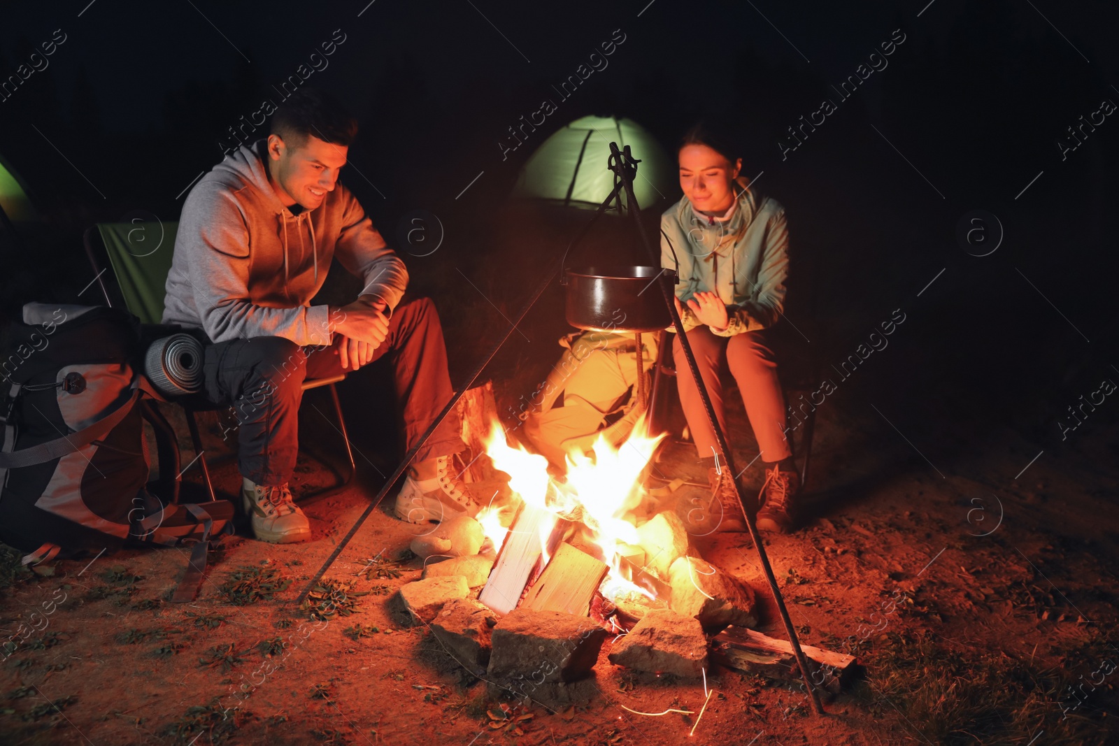
[[[765,330],[777,323],[788,276],[784,208],[740,176],[742,159],[703,124],[680,143],[684,198],[660,218],[661,266],[678,270],[676,308],[723,432],[718,370],[725,359],[742,393],[765,464],[758,528],[788,531],[800,478],[786,437],[784,396]],[[673,330],[675,331],[675,329]],[[732,474],[716,463],[718,445],[679,339],[673,340],[680,404],[700,462],[707,466],[718,530],[744,531]],[[720,513],[720,507],[722,512]]]

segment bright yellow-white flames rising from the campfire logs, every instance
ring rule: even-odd
[[[618,593],[639,593],[648,598],[656,596],[634,584],[621,565],[621,545],[638,544],[637,527],[626,514],[638,507],[646,497],[641,472],[648,465],[664,434],[650,436],[642,415],[632,433],[620,445],[614,445],[599,433],[590,451],[572,448],[567,453],[567,473],[553,479],[544,456],[528,453],[519,445],[511,447],[497,422],[490,428],[486,452],[499,471],[509,475],[509,488],[526,503],[544,508],[557,518],[580,521],[590,529],[591,539],[601,551],[610,573],[601,586],[608,598]],[[508,530],[501,526],[493,508],[479,514],[482,529],[493,546],[500,549]],[[542,545],[546,545],[554,521],[542,526]],[[544,563],[548,561],[545,546]],[[543,565],[542,565],[543,566]]]

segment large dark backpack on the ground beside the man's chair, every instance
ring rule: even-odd
[[[233,504],[179,504],[178,443],[156,405],[167,399],[139,372],[139,319],[28,303],[12,327],[0,358],[0,540],[28,553],[25,565],[195,544],[175,601],[192,599],[210,538],[232,530]],[[152,483],[144,419],[159,456]]]

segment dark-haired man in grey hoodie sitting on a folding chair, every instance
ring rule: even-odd
[[[404,263],[338,182],[356,134],[337,100],[300,88],[272,115],[266,140],[242,145],[190,190],[176,236],[163,322],[211,342],[201,396],[236,410],[242,502],[264,541],[311,536],[289,488],[305,378],[389,355],[410,448],[452,396],[434,305],[405,295]],[[310,305],[336,256],[364,278],[361,293],[340,308]],[[464,447],[459,427],[448,417],[416,454],[398,518],[477,513],[452,466]]]

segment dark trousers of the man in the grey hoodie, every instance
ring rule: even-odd
[[[352,371],[341,367],[341,334],[329,347],[300,347],[282,337],[236,339],[206,347],[204,398],[232,405],[237,417],[237,463],[256,484],[291,481],[299,453],[299,404],[303,380]],[[443,328],[431,299],[405,299],[393,311],[388,336],[374,359],[388,356],[396,398],[411,448],[451,399]],[[458,453],[464,446],[455,412],[416,454],[416,461]]]

